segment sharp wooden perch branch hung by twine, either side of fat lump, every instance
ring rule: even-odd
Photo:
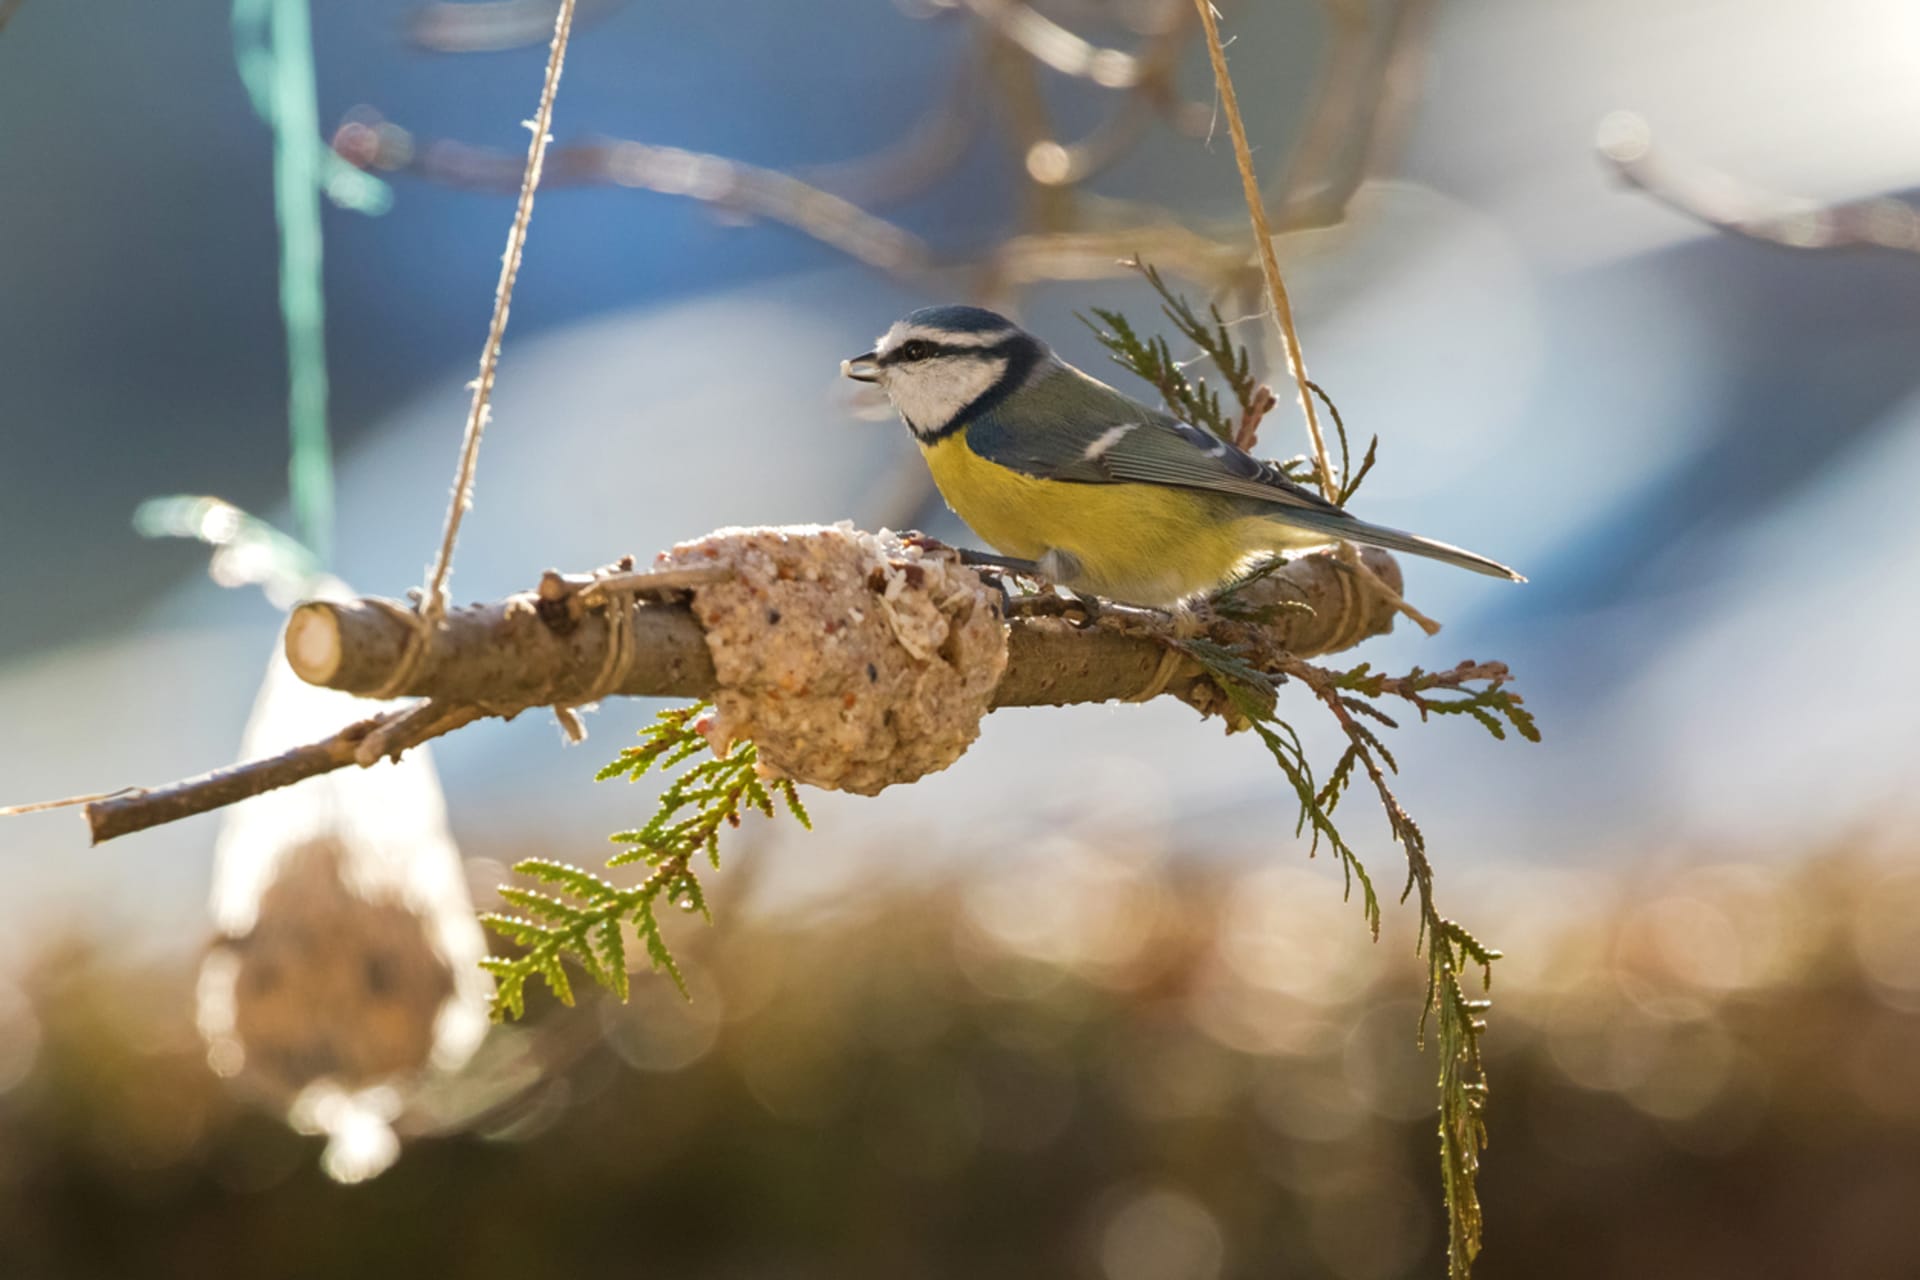
[[[1400,589],[1400,566],[1390,555],[1369,547],[1363,562],[1388,591]],[[607,693],[710,697],[714,666],[691,608],[680,601],[626,595],[639,587],[678,591],[703,576],[710,570],[614,578],[547,574],[534,591],[447,610],[426,633],[417,658],[407,656],[407,643],[422,624],[405,604],[382,599],[300,604],[288,618],[284,649],[301,679],[369,695],[386,691],[405,664],[401,687],[390,693],[419,700],[267,760],[88,798],[86,825],[98,844],[332,770],[397,758],[474,720],[513,718],[532,706],[566,708]],[[1165,639],[1175,631],[1269,654],[1269,666],[1279,670],[1281,654],[1336,652],[1394,624],[1392,597],[1363,583],[1363,576],[1332,553],[1292,560],[1238,597],[1233,606],[1198,604],[1185,620],[1146,610],[1114,610],[1091,626],[1058,616],[1014,618],[1008,666],[993,706],[1069,706],[1165,693],[1210,710],[1219,699],[1206,672],[1185,656],[1177,662],[1167,656]],[[632,612],[634,643],[609,666],[611,610],[622,608]]]

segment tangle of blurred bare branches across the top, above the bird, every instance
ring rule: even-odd
[[[1398,146],[1432,6],[1396,0],[1380,17],[1354,0],[1327,0],[1325,8],[1332,52],[1323,88],[1294,159],[1265,184],[1279,234],[1336,225],[1361,180]],[[551,15],[553,4],[442,4],[422,15],[436,33],[432,48],[465,52],[501,48],[507,33],[511,42],[526,42],[536,10]],[[914,15],[958,15],[975,33],[945,100],[874,155],[789,175],[722,155],[605,138],[557,146],[545,180],[653,190],[783,223],[874,269],[922,284],[939,273],[1002,305],[1033,284],[1117,276],[1125,271],[1119,259],[1133,255],[1215,296],[1250,299],[1258,292],[1258,265],[1240,225],[1196,226],[1171,209],[1085,190],[1154,121],[1183,136],[1210,132],[1213,109],[1183,98],[1177,86],[1181,56],[1198,31],[1187,0],[1104,12],[1137,42],[1131,50],[1094,44],[1018,0],[952,0]],[[1008,61],[1008,52],[1020,59]],[[1046,119],[1035,67],[1110,92],[1114,104],[1089,134],[1062,138]],[[1006,234],[950,253],[874,213],[950,173],[979,134],[987,104],[1000,107],[1004,146],[1029,192]],[[507,152],[417,138],[372,107],[349,113],[332,144],[351,165],[447,186],[507,192],[518,178],[518,159]]]

